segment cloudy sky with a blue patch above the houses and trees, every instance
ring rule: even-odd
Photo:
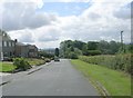
[[[66,39],[131,41],[132,0],[2,0],[0,27],[12,39],[55,48]]]

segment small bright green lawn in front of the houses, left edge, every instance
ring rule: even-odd
[[[16,69],[16,66],[9,62],[0,62],[0,71],[1,72],[10,72]]]

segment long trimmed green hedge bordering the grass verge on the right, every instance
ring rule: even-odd
[[[132,55],[133,56],[133,55]],[[131,74],[131,53],[116,56],[80,56],[79,59],[94,65]]]

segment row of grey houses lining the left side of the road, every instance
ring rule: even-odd
[[[34,45],[24,45],[12,40],[8,33],[0,30],[0,60],[11,57],[37,58],[38,48]]]

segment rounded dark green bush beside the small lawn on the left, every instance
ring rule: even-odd
[[[30,63],[24,58],[14,58],[13,65],[17,66],[17,69],[27,70],[30,69]]]

